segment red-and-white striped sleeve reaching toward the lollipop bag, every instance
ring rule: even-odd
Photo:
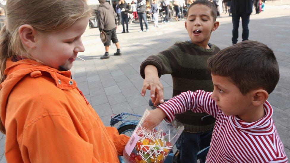
[[[168,123],[174,119],[175,114],[181,114],[187,110],[192,110],[195,113],[205,112],[216,118],[219,108],[215,100],[211,99],[211,94],[212,92],[203,90],[182,92],[157,108],[166,114],[165,120]]]

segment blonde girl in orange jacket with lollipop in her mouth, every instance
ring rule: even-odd
[[[68,71],[84,47],[85,0],[7,0],[0,118],[7,162],[119,162],[128,137],[105,127]]]

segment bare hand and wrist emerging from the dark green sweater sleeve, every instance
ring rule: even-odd
[[[163,85],[159,80],[157,68],[153,65],[145,67],[145,79],[141,90],[142,96],[145,96],[146,89],[150,90],[150,97],[155,107],[164,102]]]

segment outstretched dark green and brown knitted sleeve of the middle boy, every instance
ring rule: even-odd
[[[153,65],[158,70],[158,76],[164,74],[172,74],[182,63],[182,50],[179,44],[175,43],[168,49],[161,51],[155,55],[149,56],[140,66],[140,75],[145,79],[145,67]]]

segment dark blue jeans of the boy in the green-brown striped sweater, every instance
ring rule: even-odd
[[[179,149],[180,158],[179,162],[197,162],[198,151],[208,147],[212,139],[212,130],[188,133],[182,132],[179,139],[176,142],[176,148]],[[200,163],[204,163],[207,154],[199,159]]]

